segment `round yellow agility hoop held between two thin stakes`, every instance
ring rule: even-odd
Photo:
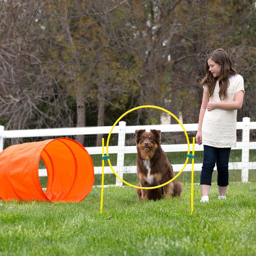
[[[125,112],[124,114],[122,114],[122,115],[116,120],[116,122],[114,123],[114,125],[112,126],[112,129],[111,129],[110,132],[109,132],[109,136],[108,136],[108,140],[107,140],[107,144],[106,144],[106,153],[107,153],[107,155],[109,155],[109,153],[108,153],[109,139],[110,139],[111,133],[112,133],[114,127],[116,126],[116,124],[117,124],[125,115],[127,115],[128,113],[130,113],[130,112],[132,112],[132,111],[134,111],[134,110],[137,110],[137,109],[142,109],[142,108],[155,108],[155,109],[162,110],[162,111],[164,111],[164,112],[170,114],[172,117],[174,117],[174,118],[176,119],[176,121],[181,125],[181,127],[182,127],[182,129],[183,129],[183,131],[184,131],[184,133],[185,133],[185,136],[186,136],[186,139],[187,139],[187,143],[188,143],[188,154],[187,154],[187,159],[186,159],[186,161],[185,161],[185,163],[184,163],[184,166],[182,167],[182,169],[180,170],[180,172],[179,172],[175,177],[173,177],[171,180],[169,180],[169,181],[167,181],[167,182],[165,182],[165,183],[163,183],[163,184],[161,184],[161,185],[158,185],[158,186],[155,186],[155,187],[138,187],[138,186],[135,186],[135,185],[132,185],[132,184],[126,182],[125,180],[123,180],[121,177],[118,176],[118,174],[114,171],[114,169],[113,169],[113,167],[112,167],[112,165],[111,165],[110,158],[108,158],[108,163],[109,163],[109,166],[110,166],[110,168],[112,169],[113,173],[116,175],[116,177],[119,178],[119,180],[121,180],[124,184],[126,184],[126,185],[128,185],[128,186],[131,186],[131,187],[133,187],[133,188],[139,188],[139,189],[154,189],[154,188],[160,188],[160,187],[163,187],[163,186],[169,184],[170,182],[172,182],[173,180],[175,180],[178,176],[180,176],[180,174],[182,173],[182,171],[185,169],[185,167],[186,167],[186,165],[187,165],[187,163],[188,163],[188,159],[189,159],[189,156],[188,156],[188,155],[189,155],[189,139],[188,139],[188,134],[187,134],[187,132],[186,132],[184,126],[183,126],[182,123],[180,122],[180,120],[178,120],[178,118],[177,118],[176,116],[174,116],[173,113],[171,113],[171,112],[169,112],[168,110],[163,109],[163,108],[161,108],[161,107],[158,107],[158,106],[151,106],[151,105],[139,106],[139,107],[136,107],[136,108],[133,108],[133,109],[128,110],[127,112]]]

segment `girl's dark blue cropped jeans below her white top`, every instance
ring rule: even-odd
[[[204,160],[201,172],[201,185],[210,185],[213,168],[217,165],[217,184],[220,187],[229,185],[229,155],[231,148],[218,148],[204,145]]]

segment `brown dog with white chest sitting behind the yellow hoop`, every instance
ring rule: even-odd
[[[161,148],[161,131],[136,130],[138,187],[155,187],[174,177],[172,165]],[[155,189],[136,189],[138,200],[158,200],[164,197],[180,197],[182,184],[172,181]]]

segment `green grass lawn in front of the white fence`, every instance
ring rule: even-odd
[[[210,202],[136,200],[131,187],[93,188],[80,203],[0,201],[0,255],[256,255],[256,183],[217,185]]]

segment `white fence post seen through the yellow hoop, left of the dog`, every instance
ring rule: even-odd
[[[118,149],[117,149],[117,171],[116,173],[123,179],[124,175],[124,146],[125,146],[125,127],[126,122],[120,121],[118,123]],[[121,187],[123,182],[116,177],[116,186]]]

